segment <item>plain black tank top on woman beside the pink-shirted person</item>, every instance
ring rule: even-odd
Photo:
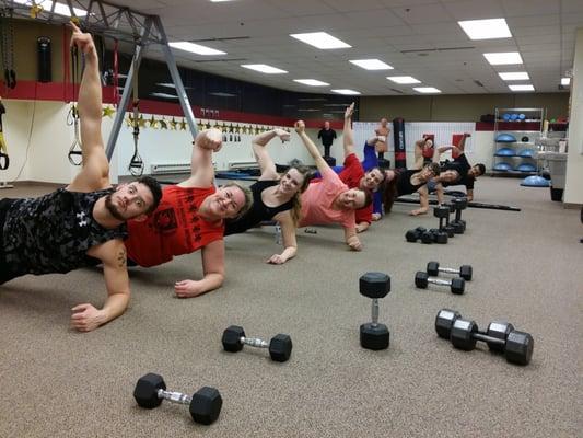
[[[224,227],[224,235],[236,234],[257,227],[264,220],[271,220],[280,211],[291,210],[293,201],[290,199],[278,207],[268,207],[261,199],[261,193],[273,185],[278,185],[278,180],[257,181],[249,188],[253,193],[253,206],[245,215],[235,220],[228,220]]]

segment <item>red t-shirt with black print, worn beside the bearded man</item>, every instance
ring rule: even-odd
[[[128,258],[140,266],[156,266],[222,240],[224,222],[208,222],[197,212],[215,191],[214,186],[164,187],[160,205],[148,219],[128,221],[129,237],[125,241]]]

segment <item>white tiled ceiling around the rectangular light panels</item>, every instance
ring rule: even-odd
[[[499,71],[527,71],[537,92],[556,92],[572,68],[583,0],[133,0],[110,1],[159,15],[168,41],[190,41],[222,51],[199,56],[174,49],[180,66],[279,89],[363,95],[418,94],[387,76],[412,76],[443,94],[509,93]],[[129,3],[129,4],[128,4]],[[471,41],[458,20],[504,18],[512,38]],[[320,50],[290,37],[327,32],[351,48]],[[244,37],[235,39],[236,37]],[[213,38],[217,38],[213,41]],[[233,39],[231,39],[233,38]],[[520,51],[523,66],[490,66],[489,51]],[[147,57],[163,60],[152,46]],[[394,70],[368,71],[349,59],[377,58]],[[268,64],[287,74],[264,74],[241,64]],[[317,79],[307,87],[293,79]],[[476,83],[479,81],[483,87]],[[420,87],[419,84],[415,87]],[[393,89],[393,90],[392,90]]]

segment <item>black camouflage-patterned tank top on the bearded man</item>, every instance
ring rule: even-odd
[[[113,193],[59,188],[38,198],[14,199],[2,230],[4,262],[14,276],[68,273],[96,264],[86,255],[95,245],[127,237],[126,224],[103,228],[93,218],[97,199]]]

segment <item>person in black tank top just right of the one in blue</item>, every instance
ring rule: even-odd
[[[423,215],[429,209],[429,192],[427,183],[434,176],[440,174],[440,165],[438,163],[430,163],[423,169],[396,169],[386,171],[385,184],[383,188],[383,205],[385,214],[389,214],[393,208],[393,203],[399,196],[410,195],[411,193],[419,193],[419,203],[421,207],[410,211],[410,215]]]

